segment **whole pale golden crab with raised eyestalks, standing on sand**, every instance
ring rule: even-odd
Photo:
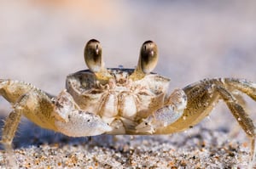
[[[255,127],[238,92],[256,101],[256,83],[238,78],[213,78],[177,88],[168,94],[170,79],[153,73],[157,45],[143,43],[136,69],[104,67],[102,46],[91,39],[84,48],[89,70],[67,76],[66,88],[54,96],[30,83],[0,79],[0,95],[12,104],[1,143],[11,153],[21,115],[43,127],[70,137],[99,134],[170,134],[195,126],[220,99],[252,140]]]

